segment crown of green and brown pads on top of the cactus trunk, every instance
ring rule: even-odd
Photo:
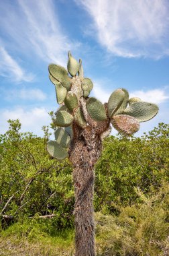
[[[82,60],[76,61],[70,52],[67,69],[60,65],[49,65],[49,78],[61,106],[55,113],[53,123],[55,140],[48,141],[47,150],[59,160],[68,157],[70,141],[75,136],[72,125],[80,129],[91,127],[101,139],[109,135],[110,123],[117,131],[132,135],[139,130],[139,122],[148,121],[158,113],[156,104],[142,102],[136,97],[129,99],[127,90],[123,88],[115,90],[105,104],[97,98],[90,98],[93,82],[84,77]]]

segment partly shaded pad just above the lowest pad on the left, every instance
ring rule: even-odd
[[[64,128],[58,128],[54,132],[56,142],[62,146],[62,148],[68,148],[70,146],[70,135],[64,130]]]

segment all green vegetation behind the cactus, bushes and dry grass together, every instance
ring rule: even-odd
[[[1,255],[73,255],[72,168],[9,121],[0,137]],[[98,256],[169,255],[169,125],[110,136],[96,166]],[[49,218],[52,215],[52,218]],[[43,217],[43,218],[42,218]]]

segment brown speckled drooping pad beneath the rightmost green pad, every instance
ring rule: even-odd
[[[139,130],[139,122],[128,115],[117,115],[111,119],[113,127],[125,135],[132,135]]]

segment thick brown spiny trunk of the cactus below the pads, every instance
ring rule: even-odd
[[[73,129],[69,155],[74,166],[75,256],[95,256],[94,166],[101,154],[101,139],[91,127],[81,129],[73,124]]]

